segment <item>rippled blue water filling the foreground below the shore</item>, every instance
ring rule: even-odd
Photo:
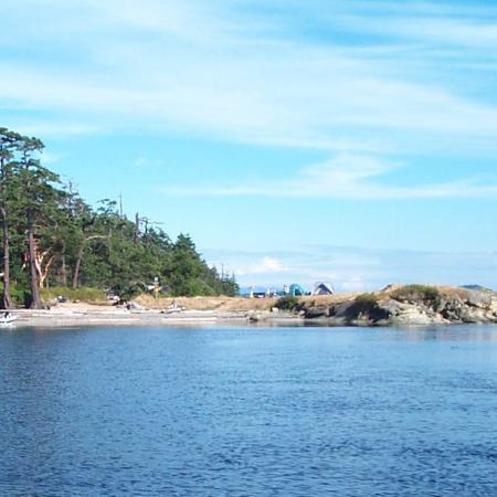
[[[497,495],[497,327],[0,330],[2,496]]]

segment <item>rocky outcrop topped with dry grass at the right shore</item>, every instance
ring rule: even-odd
[[[497,324],[497,294],[408,285],[329,305],[302,302],[296,310],[330,326]]]

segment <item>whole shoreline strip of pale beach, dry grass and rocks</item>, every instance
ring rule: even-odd
[[[67,326],[329,326],[425,327],[497,324],[497,294],[457,287],[395,285],[370,294],[293,298],[178,297],[141,295],[127,307],[109,302],[54,304],[50,309],[12,309],[3,327]]]

